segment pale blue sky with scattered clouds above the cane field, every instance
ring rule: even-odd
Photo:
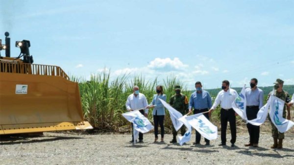
[[[0,38],[30,40],[35,64],[89,78],[176,76],[194,89],[251,78],[294,84],[293,0],[0,0]],[[13,56],[19,49],[12,47]],[[3,55],[4,52],[2,51]],[[161,82],[159,82],[161,83]]]

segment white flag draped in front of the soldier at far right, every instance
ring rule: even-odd
[[[293,121],[283,118],[284,104],[285,102],[280,98],[270,95],[270,120],[281,133],[294,126]]]

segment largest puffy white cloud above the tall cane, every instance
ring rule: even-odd
[[[149,69],[162,71],[181,71],[188,68],[188,65],[183,64],[179,58],[155,58],[147,66]]]

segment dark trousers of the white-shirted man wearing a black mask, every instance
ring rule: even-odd
[[[225,110],[221,108],[221,143],[226,143],[226,127],[228,124],[228,121],[230,123],[231,128],[231,143],[236,142],[237,137],[237,131],[236,131],[236,116],[235,111],[233,108],[229,110]]]

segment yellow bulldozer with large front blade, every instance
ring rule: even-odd
[[[28,40],[10,57],[9,33],[0,40],[0,135],[92,129],[84,121],[78,83],[57,66],[33,64]]]

